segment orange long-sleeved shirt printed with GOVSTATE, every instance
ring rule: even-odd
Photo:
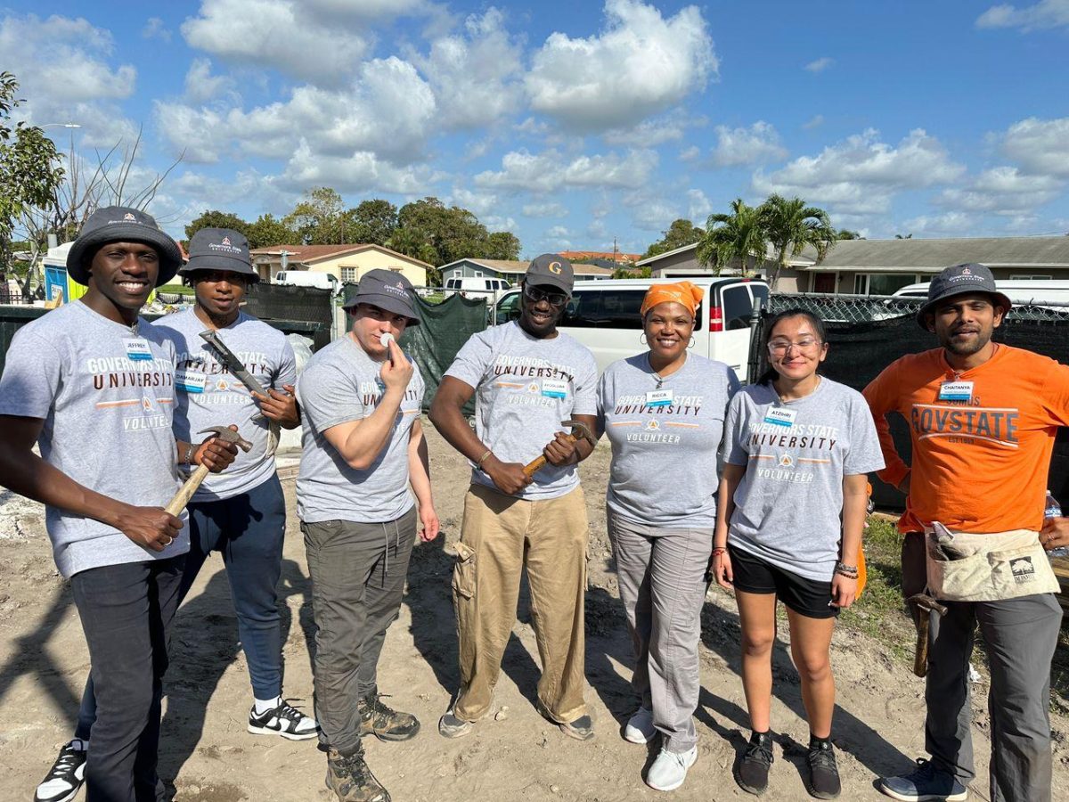
[[[941,399],[944,382],[971,382],[967,400]],[[958,394],[962,388],[958,388]],[[988,361],[956,372],[943,349],[892,363],[865,388],[887,467],[898,485],[910,467],[895,450],[887,414],[905,418],[913,466],[901,531],[940,521],[951,529],[1038,531],[1059,426],[1069,426],[1069,367],[1000,344]]]

